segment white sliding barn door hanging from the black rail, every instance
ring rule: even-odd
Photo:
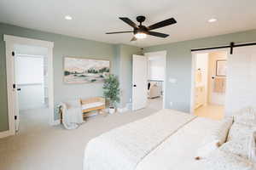
[[[234,48],[228,56],[225,112],[256,105],[256,46]]]

